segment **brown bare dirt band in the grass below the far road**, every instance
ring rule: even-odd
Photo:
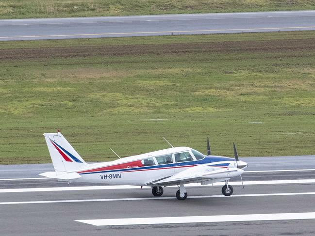
[[[250,51],[296,51],[314,50],[314,39],[284,39],[238,42],[206,42],[178,44],[149,44],[123,46],[82,46],[0,49],[0,60],[33,58],[65,58],[87,56],[179,54],[190,52],[233,53]]]

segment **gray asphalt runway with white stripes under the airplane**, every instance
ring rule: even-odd
[[[185,201],[177,187],[157,198],[150,188],[33,179],[51,164],[0,166],[1,235],[315,235],[315,156],[241,159],[245,189],[239,178],[231,197],[219,183],[193,184]]]

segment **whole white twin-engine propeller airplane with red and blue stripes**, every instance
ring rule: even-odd
[[[114,161],[88,164],[59,130],[44,136],[55,171],[40,175],[69,182],[150,186],[156,197],[162,196],[163,186],[177,185],[177,199],[185,200],[187,191],[184,184],[208,185],[224,181],[222,193],[230,196],[233,193],[230,178],[241,176],[244,173],[242,169],[248,166],[239,160],[234,143],[235,159],[212,156],[209,139],[207,156],[189,147],[173,147],[166,141],[171,148],[132,157],[120,158],[117,155],[119,159]]]

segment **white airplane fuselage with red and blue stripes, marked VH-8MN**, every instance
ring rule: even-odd
[[[135,157],[125,157],[112,162],[89,164],[90,168],[77,171],[81,178],[73,180],[76,182],[93,182],[114,185],[150,185],[150,182],[170,177],[176,173],[187,170],[190,167],[203,165],[207,171],[226,170],[236,168],[236,161],[229,157],[207,156],[197,159],[191,152],[191,148],[169,148],[153,153],[143,154]],[[176,160],[176,154],[187,152],[192,159],[188,161]],[[174,156],[175,154],[175,156]],[[159,164],[158,160],[162,156],[171,156],[171,163]],[[143,165],[144,159],[152,158],[151,165]],[[222,174],[221,174],[222,175]],[[223,174],[224,175],[224,174]],[[229,178],[233,176],[220,176]],[[238,174],[239,175],[239,174]],[[209,179],[211,176],[209,177]]]

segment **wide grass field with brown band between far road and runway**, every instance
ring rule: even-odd
[[[109,148],[167,148],[162,136],[202,152],[209,136],[223,156],[232,142],[243,157],[314,154],[314,40],[300,31],[0,42],[0,164],[50,162],[42,134],[57,128],[87,161],[115,158]]]

